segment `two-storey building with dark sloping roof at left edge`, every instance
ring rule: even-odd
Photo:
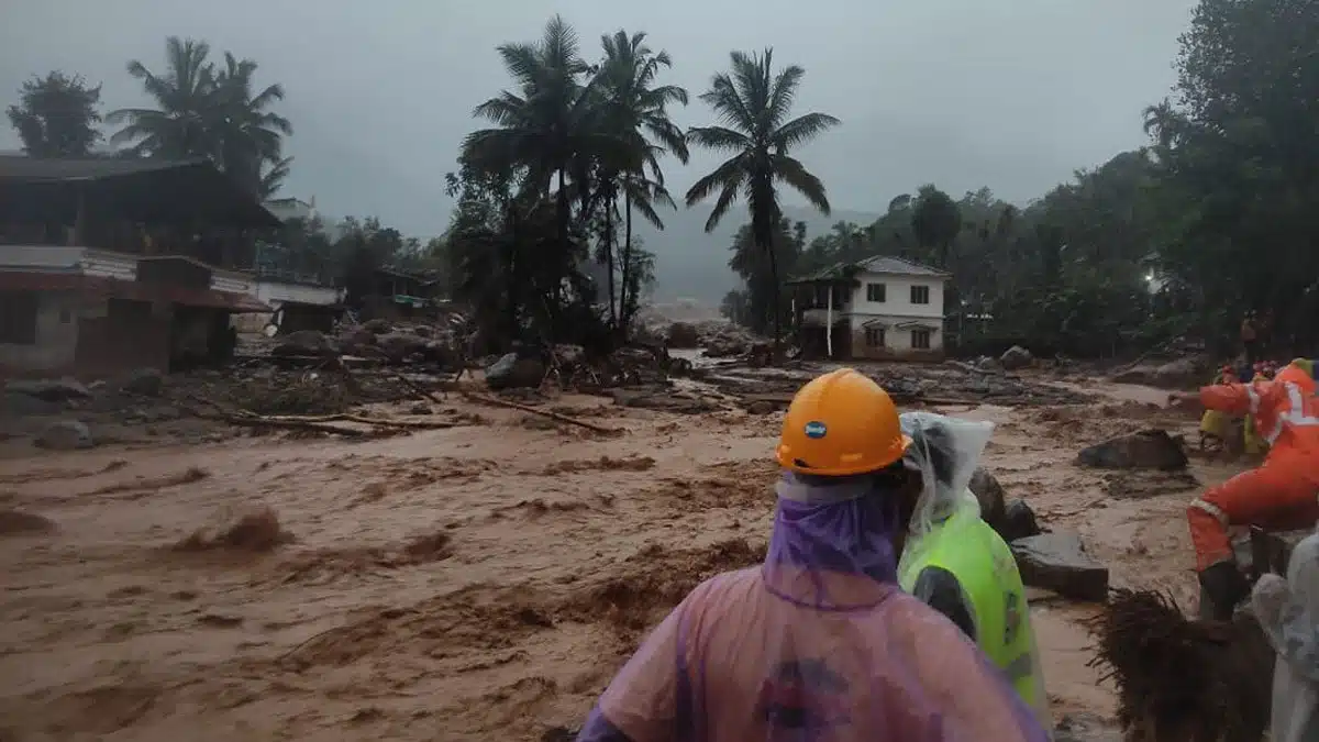
[[[223,358],[278,226],[206,160],[0,157],[0,375]]]

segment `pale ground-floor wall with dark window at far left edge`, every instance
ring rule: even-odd
[[[71,292],[0,292],[0,372],[26,375],[73,367],[79,309]]]

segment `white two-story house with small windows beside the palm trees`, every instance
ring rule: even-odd
[[[790,281],[802,350],[832,359],[940,358],[948,279],[929,265],[881,255]]]

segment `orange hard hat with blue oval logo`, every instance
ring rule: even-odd
[[[888,392],[852,368],[839,368],[798,389],[783,417],[777,458],[799,474],[848,477],[889,466],[910,444]]]

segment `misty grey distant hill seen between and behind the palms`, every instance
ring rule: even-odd
[[[881,217],[864,211],[834,211],[824,217],[799,206],[785,206],[783,215],[791,222],[806,222],[807,242],[830,231],[838,222],[869,226]],[[749,220],[747,206],[735,207],[710,234],[706,234],[707,206],[661,213],[660,217],[665,222],[663,231],[645,222],[636,227],[646,250],[656,253],[654,301],[695,298],[702,305],[718,308],[724,294],[739,283],[737,275],[728,268],[728,259],[733,235]]]

